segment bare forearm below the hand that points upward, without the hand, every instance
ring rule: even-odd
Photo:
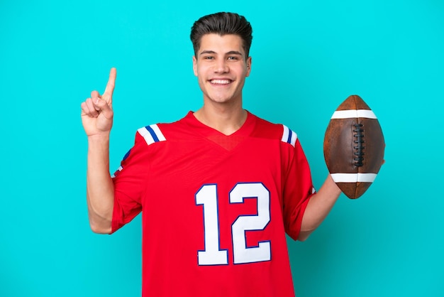
[[[111,232],[114,186],[109,174],[109,135],[88,138],[87,203],[93,232]]]

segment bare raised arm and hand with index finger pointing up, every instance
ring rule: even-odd
[[[82,102],[82,124],[88,136],[87,204],[93,232],[111,232],[114,186],[109,173],[109,134],[113,126],[113,90],[116,68],[111,68],[103,95],[91,92]]]

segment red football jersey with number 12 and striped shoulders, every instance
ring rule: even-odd
[[[285,232],[314,193],[296,134],[248,113],[138,129],[113,177],[112,232],[142,212],[143,296],[294,296]]]

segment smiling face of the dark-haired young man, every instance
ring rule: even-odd
[[[251,69],[251,57],[245,57],[242,45],[237,35],[202,36],[201,47],[193,57],[193,70],[204,102],[242,102],[242,88]]]

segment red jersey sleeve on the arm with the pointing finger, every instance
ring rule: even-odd
[[[114,207],[111,233],[116,232],[142,210],[141,198],[148,176],[148,145],[139,132],[134,146],[126,153],[113,174]]]

